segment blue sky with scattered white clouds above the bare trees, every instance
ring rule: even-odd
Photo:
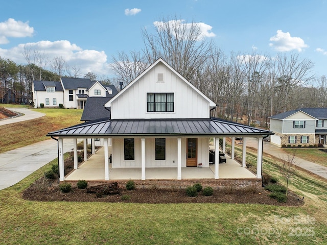
[[[226,55],[295,52],[327,75],[327,0],[0,0],[0,10],[0,56],[18,64],[27,45],[111,77],[112,55],[141,51],[142,29],[176,16],[199,23]]]

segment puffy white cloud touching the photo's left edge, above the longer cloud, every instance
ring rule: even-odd
[[[29,26],[29,22],[16,21],[9,18],[5,22],[0,22],[0,44],[9,43],[7,37],[31,37],[34,28]]]

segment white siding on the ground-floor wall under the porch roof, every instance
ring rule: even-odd
[[[112,139],[112,167],[141,167],[141,138],[135,138],[134,160],[124,159],[124,139]],[[198,163],[209,166],[209,138],[198,138]],[[155,160],[155,138],[145,138],[146,167],[177,168],[177,138],[166,138],[166,159]],[[181,138],[181,167],[186,167],[186,138]]]

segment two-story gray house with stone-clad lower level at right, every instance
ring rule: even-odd
[[[327,108],[302,108],[270,117],[270,142],[279,146],[327,144]]]

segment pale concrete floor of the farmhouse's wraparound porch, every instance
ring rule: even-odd
[[[109,149],[109,155],[110,151]],[[151,167],[145,169],[146,179],[177,179],[176,167]],[[182,179],[214,179],[215,164],[209,167],[182,167]],[[65,180],[104,180],[104,149],[100,148],[96,154],[74,169]],[[219,179],[256,178],[246,167],[227,156],[226,163],[219,164]],[[109,163],[110,180],[141,180],[139,168],[112,168]]]

